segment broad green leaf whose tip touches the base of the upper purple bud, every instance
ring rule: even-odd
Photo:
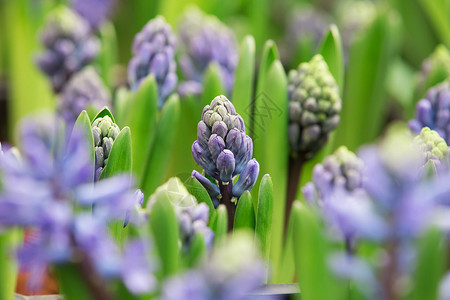
[[[153,76],[141,83],[128,107],[125,125],[131,130],[131,149],[133,151],[133,174],[143,179],[145,166],[156,130],[158,114],[158,88]]]

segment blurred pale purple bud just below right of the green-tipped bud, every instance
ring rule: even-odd
[[[314,167],[313,182],[306,184],[303,194],[308,201],[320,204],[337,190],[356,192],[363,187],[363,172],[362,160],[341,146]]]

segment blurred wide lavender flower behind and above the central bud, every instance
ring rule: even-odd
[[[180,22],[179,39],[183,51],[180,68],[187,80],[180,85],[180,94],[201,94],[203,76],[211,63],[219,66],[223,86],[231,94],[238,60],[234,33],[216,17],[191,9]]]

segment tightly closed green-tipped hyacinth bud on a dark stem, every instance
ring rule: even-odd
[[[310,159],[339,124],[341,98],[321,55],[289,73],[289,144],[292,155]]]

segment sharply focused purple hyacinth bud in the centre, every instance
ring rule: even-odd
[[[217,96],[205,106],[202,120],[197,126],[197,140],[192,145],[194,160],[205,173],[219,184],[232,186],[232,180],[241,176],[232,188],[234,197],[250,190],[256,182],[259,164],[253,155],[252,139],[245,134],[242,117],[236,113],[233,104],[223,95]],[[217,189],[207,183],[208,179],[195,173],[206,190],[215,193]]]

